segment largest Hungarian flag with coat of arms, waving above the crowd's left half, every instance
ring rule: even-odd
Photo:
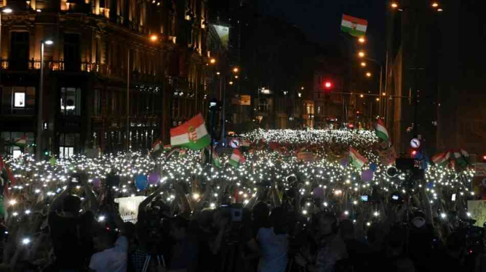
[[[201,113],[183,123],[181,126],[170,129],[170,144],[172,146],[201,150],[210,143],[211,137],[206,130]]]

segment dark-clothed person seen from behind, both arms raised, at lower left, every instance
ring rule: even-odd
[[[81,199],[70,194],[76,179],[90,202],[87,211],[80,214]],[[59,271],[80,271],[93,253],[91,240],[95,223],[93,211],[98,209],[95,194],[87,185],[85,173],[73,175],[67,188],[49,207],[49,228],[54,248],[55,267]]]

